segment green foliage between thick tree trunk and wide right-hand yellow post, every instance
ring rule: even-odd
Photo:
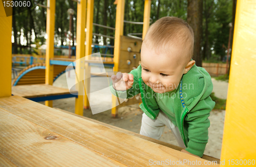
[[[204,0],[203,10],[203,59],[214,63],[226,55],[229,26],[232,22],[232,0]],[[216,57],[218,55],[218,57]]]

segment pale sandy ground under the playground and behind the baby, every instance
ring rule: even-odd
[[[68,79],[67,79],[68,78]],[[68,88],[68,85],[74,82],[75,75],[74,73],[70,73],[70,77],[66,77],[66,74],[62,74],[55,82],[54,86]],[[69,84],[68,84],[69,83]],[[142,110],[139,108],[138,104],[123,106],[118,110],[118,118],[111,117],[111,94],[108,91],[97,91],[99,88],[103,88],[103,85],[108,83],[106,77],[93,77],[91,78],[91,92],[95,92],[95,94],[91,94],[90,103],[97,102],[95,105],[100,104],[99,110],[94,109],[94,113],[92,114],[91,109],[83,109],[83,116],[92,118],[107,124],[111,124],[126,130],[130,130],[136,133],[139,133],[141,126],[141,118],[142,118]],[[212,78],[212,83],[214,85],[215,95],[219,98],[226,99],[227,97],[227,88],[228,83],[225,81],[217,81]],[[44,104],[44,102],[40,102]],[[58,99],[53,100],[53,107],[57,107],[63,110],[67,110],[69,112],[74,113],[75,111],[75,98],[67,98],[67,99]],[[106,110],[106,109],[108,110]],[[105,112],[102,112],[105,110]],[[224,126],[224,117],[225,110],[212,110],[210,113],[209,120],[211,125],[209,127],[209,140],[206,145],[206,149],[204,154],[220,158],[221,156],[221,145],[222,145],[222,135],[223,135],[223,126]],[[173,145],[177,145],[178,143],[175,140],[173,133],[165,127],[162,137],[160,141],[164,141],[166,143],[170,143]]]

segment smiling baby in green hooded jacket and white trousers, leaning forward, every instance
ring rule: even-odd
[[[182,152],[202,157],[215,102],[210,75],[191,59],[193,49],[194,33],[184,20],[157,20],[143,40],[141,64],[112,75],[111,91],[120,98],[141,93],[140,134],[159,140],[167,126]]]

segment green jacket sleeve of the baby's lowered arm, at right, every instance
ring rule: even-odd
[[[210,111],[214,108],[215,102],[211,100],[210,96],[201,99],[198,104],[190,110],[185,117],[188,125],[188,143],[186,151],[203,156],[205,146],[208,142],[208,128],[210,121]]]

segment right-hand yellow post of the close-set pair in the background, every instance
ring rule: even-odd
[[[86,19],[86,60],[91,60],[92,54],[92,40],[93,40],[93,7],[94,0],[87,1],[87,19]],[[88,56],[90,55],[90,56]],[[86,88],[86,92],[90,93],[90,76],[91,76],[91,67],[88,63],[85,65],[86,69],[86,82],[84,83],[84,87]],[[89,96],[87,94],[84,95],[84,108],[89,108]]]

